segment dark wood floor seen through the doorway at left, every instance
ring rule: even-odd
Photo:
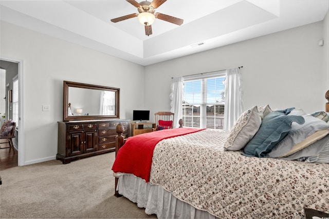
[[[6,141],[1,140],[1,142],[6,142]],[[18,166],[18,161],[19,161],[18,151],[14,149],[15,150],[15,154],[14,154],[12,149],[6,148],[9,147],[8,143],[0,144],[0,147],[4,148],[4,149],[0,149],[0,170]]]

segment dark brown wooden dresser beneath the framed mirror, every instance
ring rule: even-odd
[[[58,152],[63,164],[83,157],[115,151],[116,126],[121,123],[123,135],[129,137],[129,120],[90,120],[58,122]]]

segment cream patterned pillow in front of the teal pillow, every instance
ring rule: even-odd
[[[224,148],[230,151],[241,150],[255,135],[261,124],[262,119],[257,106],[248,109],[241,114],[230,130]]]

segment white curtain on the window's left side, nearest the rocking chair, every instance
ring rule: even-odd
[[[170,111],[174,114],[174,128],[177,128],[178,121],[182,118],[182,96],[183,96],[183,78],[182,77],[174,77],[172,78],[171,83],[171,93],[170,93]]]

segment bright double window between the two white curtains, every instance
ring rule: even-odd
[[[224,128],[225,71],[184,77],[182,119],[186,127]]]

